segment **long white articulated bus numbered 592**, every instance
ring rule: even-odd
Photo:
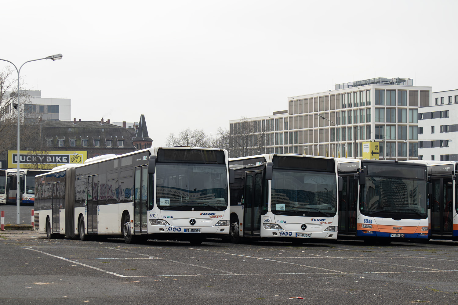
[[[207,235],[229,234],[226,150],[162,147],[102,155],[56,167],[35,182],[34,225],[48,238],[122,235],[126,243],[200,244]]]

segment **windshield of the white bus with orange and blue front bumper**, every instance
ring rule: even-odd
[[[393,219],[425,219],[425,180],[366,176],[361,186],[360,211],[366,216]]]

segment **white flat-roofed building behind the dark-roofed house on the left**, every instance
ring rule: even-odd
[[[36,122],[38,118],[44,121],[70,121],[71,99],[41,97],[41,91],[29,90],[30,101],[24,104],[25,121]]]

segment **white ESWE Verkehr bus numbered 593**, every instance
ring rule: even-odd
[[[303,243],[336,239],[338,177],[335,159],[266,154],[229,159],[230,240]]]

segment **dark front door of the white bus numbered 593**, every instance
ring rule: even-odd
[[[250,171],[245,177],[244,236],[261,235],[262,171]]]

